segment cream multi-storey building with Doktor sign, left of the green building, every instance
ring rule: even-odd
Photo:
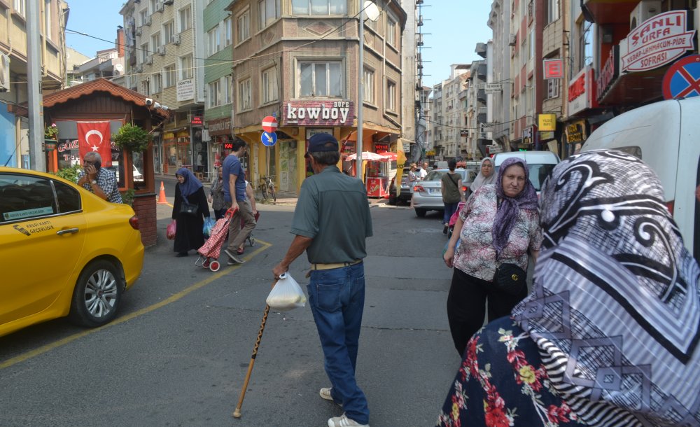
[[[204,66],[207,59],[202,17],[204,1],[128,0],[124,17],[126,85],[149,99],[152,108],[174,111],[153,132],[156,173],[188,167],[207,179],[218,152],[204,131]]]

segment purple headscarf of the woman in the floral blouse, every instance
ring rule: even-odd
[[[519,164],[525,169],[525,188],[515,197],[508,197],[503,193],[503,174],[509,166]],[[537,191],[530,182],[530,170],[527,167],[527,162],[520,158],[507,158],[500,164],[498,168],[498,176],[496,176],[496,195],[500,205],[496,212],[496,218],[493,219],[493,247],[496,248],[496,255],[503,251],[505,245],[508,244],[508,237],[515,226],[515,221],[518,218],[520,209],[538,209]]]

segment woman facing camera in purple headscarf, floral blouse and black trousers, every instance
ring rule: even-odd
[[[455,249],[456,241],[460,239]],[[496,267],[512,263],[527,271],[528,253],[537,256],[542,242],[538,200],[527,163],[507,158],[493,185],[479,188],[464,205],[443,258],[455,267],[447,296],[447,320],[460,356],[469,338],[489,321],[507,316],[527,295],[527,287],[513,294],[493,285]]]

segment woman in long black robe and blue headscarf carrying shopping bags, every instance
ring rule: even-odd
[[[197,177],[181,167],[175,173],[178,184],[175,186],[175,202],[172,218],[176,221],[175,256],[187,256],[192,250],[197,250],[204,244],[204,217],[209,218],[209,204],[204,195],[204,187]],[[188,212],[188,205],[194,205]]]

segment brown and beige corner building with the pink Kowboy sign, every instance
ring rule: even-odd
[[[235,136],[248,142],[251,181],[274,175],[279,193],[296,195],[310,173],[309,137],[328,132],[342,141],[343,159],[357,151],[358,109],[362,150],[395,151],[401,135],[402,31],[407,14],[396,1],[374,1],[367,20],[363,64],[358,63],[360,1],[232,1]],[[359,79],[363,102],[358,105]],[[414,96],[414,92],[410,95]],[[274,145],[261,138],[261,121],[279,123]],[[388,165],[367,168],[388,178]],[[362,174],[355,162],[343,162]]]

